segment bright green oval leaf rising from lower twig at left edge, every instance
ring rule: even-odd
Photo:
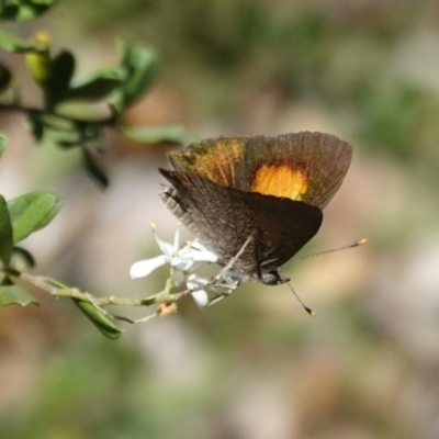
[[[13,243],[20,243],[46,226],[63,206],[64,200],[43,191],[30,192],[8,201]]]

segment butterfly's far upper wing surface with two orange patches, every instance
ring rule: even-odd
[[[218,137],[169,154],[176,170],[224,187],[290,198],[325,207],[350,165],[351,147],[323,133]]]

